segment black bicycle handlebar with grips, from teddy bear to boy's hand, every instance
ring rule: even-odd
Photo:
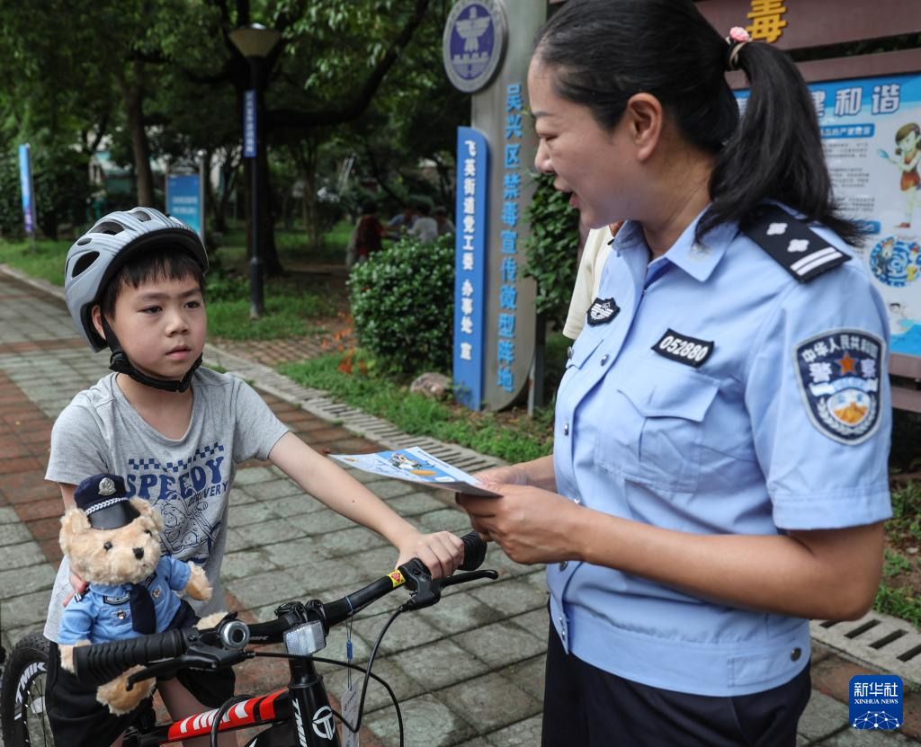
[[[479,568],[486,555],[486,543],[475,532],[466,534],[461,537],[461,540],[464,544],[464,560],[461,563],[461,570]],[[480,578],[479,574],[475,575]],[[319,615],[323,627],[329,630],[331,626],[355,615],[368,604],[376,602],[404,583],[410,589],[418,591],[420,589],[419,580],[426,579],[426,577],[430,580],[428,569],[422,561],[414,557],[399,569],[342,599],[325,604],[314,603],[309,607],[300,603],[283,604],[275,611],[278,619],[248,626],[248,640],[258,643],[280,641],[286,630],[305,622],[306,615],[311,614]],[[433,583],[438,584],[439,581]],[[437,592],[434,596],[429,593],[426,603],[418,606],[435,603],[437,599]],[[230,626],[233,626],[232,630]],[[240,626],[243,624],[238,620],[226,618],[211,630],[198,630],[193,627],[166,630],[162,633],[126,638],[111,643],[77,646],[74,649],[74,673],[76,678],[85,684],[99,685],[110,682],[137,664],[148,665],[152,661],[178,657],[186,660],[181,662],[181,666],[216,669],[219,666],[237,663],[245,658],[245,654],[240,650],[242,646],[235,645],[235,642],[239,642],[242,638]],[[246,641],[243,641],[243,645],[246,645]],[[190,649],[192,651],[187,653]],[[236,650],[231,650],[228,656],[226,649]]]

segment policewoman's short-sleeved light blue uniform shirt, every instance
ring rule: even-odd
[[[697,220],[651,263],[639,224],[617,234],[599,299],[619,311],[600,305],[557,394],[558,491],[694,534],[889,518],[889,328],[860,259],[800,283],[737,224],[696,243]],[[547,579],[564,649],[638,683],[746,695],[810,658],[806,620],[588,563]]]

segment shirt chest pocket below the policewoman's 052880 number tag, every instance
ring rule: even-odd
[[[595,445],[599,465],[650,488],[694,492],[707,409],[716,379],[680,364],[647,359],[627,376],[606,377],[610,426]]]

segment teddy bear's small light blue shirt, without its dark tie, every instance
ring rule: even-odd
[[[154,602],[157,615],[157,633],[169,627],[179,610],[180,599],[173,591],[181,592],[189,583],[192,567],[169,556],[160,557],[147,591]],[[79,598],[64,607],[58,643],[74,645],[78,640],[90,643],[109,643],[123,638],[136,638],[131,619],[130,586],[90,584]]]

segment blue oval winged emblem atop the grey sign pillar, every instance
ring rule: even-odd
[[[442,59],[451,85],[473,93],[492,80],[506,46],[506,17],[496,0],[461,0],[445,24]]]

